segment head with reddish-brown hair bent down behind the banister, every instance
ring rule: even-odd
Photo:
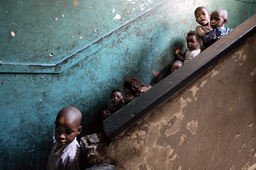
[[[131,102],[133,99],[137,98],[141,92],[142,84],[140,78],[130,77],[124,80],[123,86],[123,99],[125,104]]]

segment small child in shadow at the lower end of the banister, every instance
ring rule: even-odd
[[[122,90],[115,89],[111,93],[111,104],[102,112],[102,118],[106,119],[123,107],[124,100]]]

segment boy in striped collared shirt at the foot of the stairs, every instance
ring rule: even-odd
[[[55,136],[52,151],[48,160],[47,170],[77,170],[80,169],[80,145],[76,141],[83,129],[82,114],[75,107],[65,107],[60,110],[55,122]]]

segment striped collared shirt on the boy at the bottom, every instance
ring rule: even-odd
[[[60,148],[57,152],[55,150],[60,146],[54,137],[53,139],[52,151],[46,170],[79,170],[81,150],[76,138],[68,146]]]

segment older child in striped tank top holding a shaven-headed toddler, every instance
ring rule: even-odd
[[[201,26],[196,27],[196,33],[199,38],[200,50],[204,50],[204,35],[212,30],[210,26],[210,13],[208,10],[200,6],[195,10],[196,22]]]

